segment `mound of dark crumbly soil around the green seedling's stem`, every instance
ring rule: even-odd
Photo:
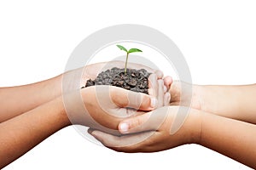
[[[127,69],[125,73],[125,69],[113,67],[110,70],[102,71],[95,80],[87,80],[83,88],[95,85],[112,85],[148,94],[148,77],[150,74],[145,69]]]

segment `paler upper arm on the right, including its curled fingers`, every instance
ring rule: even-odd
[[[170,87],[171,105],[191,106],[218,116],[256,124],[256,84],[191,85],[186,82],[172,82],[170,77],[165,78],[165,83],[167,87]],[[192,99],[191,105],[189,99]]]

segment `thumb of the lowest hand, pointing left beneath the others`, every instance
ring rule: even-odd
[[[157,130],[168,115],[168,107],[147,112],[143,115],[132,116],[119,123],[120,133],[139,133]]]

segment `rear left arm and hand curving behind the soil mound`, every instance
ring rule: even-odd
[[[112,67],[123,68],[125,62],[112,61],[108,63],[97,63],[93,65],[86,65],[86,67],[79,68],[73,71],[67,71],[57,77],[50,78],[42,82],[36,82],[24,86],[0,88],[0,122],[7,121],[15,116],[30,111],[39,105],[49,102],[64,94],[73,92],[83,87],[88,79],[96,78],[97,74],[103,70]],[[155,73],[158,78],[162,78],[161,71],[153,70],[145,65],[137,65],[129,63],[131,68],[143,68],[149,72]],[[67,89],[62,89],[63,83],[66,83]],[[78,83],[73,83],[78,82]],[[26,97],[26,99],[24,99]]]

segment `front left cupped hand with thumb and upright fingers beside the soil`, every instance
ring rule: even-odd
[[[163,80],[151,74],[148,82],[149,95],[113,86],[83,88],[80,93],[64,95],[67,115],[73,124],[118,133],[118,124],[125,117],[152,111],[164,102],[168,104],[170,94],[165,92]]]

